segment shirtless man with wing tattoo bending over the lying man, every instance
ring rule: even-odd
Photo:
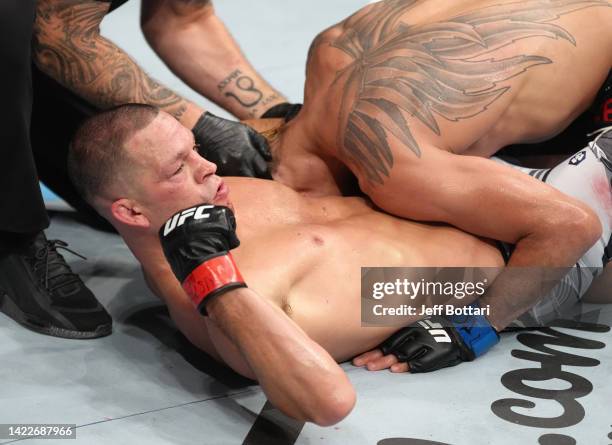
[[[354,177],[389,213],[514,245],[508,264],[525,269],[480,300],[500,330],[542,297],[529,272],[560,278],[601,226],[579,200],[485,158],[552,137],[591,103],[612,65],[610,23],[606,0],[367,6],[314,40],[273,177],[315,194],[347,193]]]

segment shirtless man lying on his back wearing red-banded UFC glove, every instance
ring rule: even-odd
[[[584,150],[577,168],[568,162],[549,178],[588,202],[610,236],[610,172],[596,152]],[[292,157],[290,147],[285,154]],[[309,196],[276,181],[222,179],[199,156],[189,130],[144,105],[88,120],[75,136],[69,169],[83,196],[123,236],[187,338],[256,378],[287,415],[320,425],[338,422],[355,403],[336,362],[375,347],[398,329],[362,327],[362,266],[504,265],[494,242],[381,213],[361,197]],[[181,280],[199,273],[215,282],[211,293],[192,280],[196,286],[185,286],[188,296],[164,258],[158,230],[177,210],[194,206],[182,221],[170,219],[162,229]],[[586,265],[601,270],[603,240],[593,249]],[[208,316],[195,311],[190,298]],[[407,316],[405,324],[417,319]]]

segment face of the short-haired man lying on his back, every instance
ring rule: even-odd
[[[198,154],[191,131],[160,113],[127,144],[138,165],[135,201],[157,230],[174,213],[206,203],[231,206],[217,166]]]

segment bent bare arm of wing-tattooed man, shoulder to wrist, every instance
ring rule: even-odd
[[[390,149],[394,165],[385,183],[364,187],[379,207],[515,245],[509,267],[480,299],[498,331],[546,295],[600,236],[588,205],[522,172],[424,144],[419,159],[399,143]]]

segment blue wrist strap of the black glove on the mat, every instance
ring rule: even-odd
[[[480,308],[478,303],[470,306]],[[452,315],[448,319],[475,358],[499,343],[499,334],[484,315]]]

